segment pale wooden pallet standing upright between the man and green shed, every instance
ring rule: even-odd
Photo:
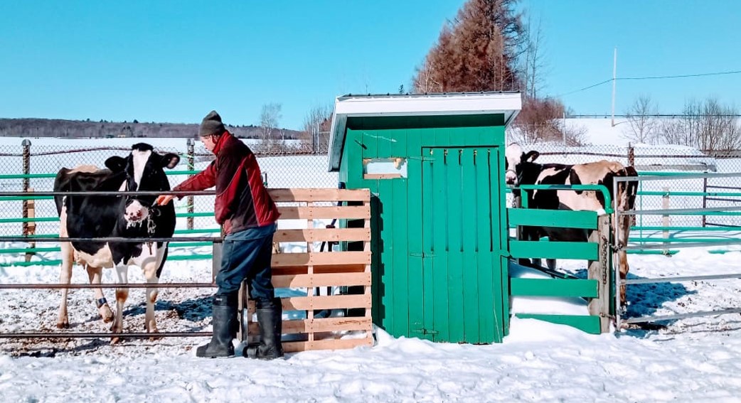
[[[283,349],[286,352],[336,350],[373,344],[371,323],[371,193],[367,189],[270,189],[281,212],[273,236],[273,286],[302,294],[283,297]],[[352,205],[347,205],[347,204]],[[341,205],[340,205],[341,204]],[[336,219],[336,228],[328,228]],[[340,228],[340,219],[362,220]],[[362,250],[328,251],[322,242],[362,242]],[[300,252],[290,252],[299,248]],[[362,293],[339,293],[340,287],[359,286]],[[330,292],[328,289],[334,290]],[[240,290],[242,326],[239,339],[259,341],[253,322],[254,303]],[[362,316],[337,316],[348,309]],[[358,309],[353,309],[358,311]],[[320,317],[320,313],[333,313]]]

